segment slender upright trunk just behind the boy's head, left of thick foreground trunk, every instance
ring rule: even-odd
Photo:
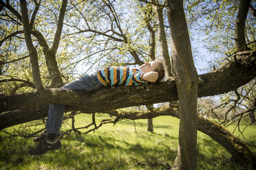
[[[156,3],[156,0],[153,0],[153,3]],[[170,61],[169,50],[167,45],[167,38],[164,32],[164,16],[162,15],[162,8],[163,8],[162,6],[153,5],[153,9],[155,10],[156,15],[158,17],[160,49],[162,52],[162,57],[164,58],[166,76],[167,76],[167,79],[169,79],[170,77],[173,77],[173,74],[171,73],[171,61]]]

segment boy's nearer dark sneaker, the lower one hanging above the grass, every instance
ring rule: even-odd
[[[55,150],[61,147],[61,141],[56,137],[53,141],[43,139],[36,147],[30,149],[28,154],[30,155],[41,155],[50,150]]]

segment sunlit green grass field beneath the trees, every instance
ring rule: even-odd
[[[109,115],[96,116],[98,122],[105,118]],[[90,115],[76,116],[76,125],[87,125],[90,121]],[[103,125],[94,133],[65,135],[61,138],[61,149],[41,156],[28,155],[28,149],[35,145],[32,138],[0,132],[0,169],[169,169],[177,154],[178,124],[179,120],[173,117],[157,117],[153,119],[151,133],[147,132],[147,120],[123,120],[116,125]],[[248,127],[244,132],[246,138],[242,138],[254,153],[255,127]],[[70,126],[64,125],[65,128]],[[221,145],[198,132],[198,169],[242,167],[233,162],[231,154]]]

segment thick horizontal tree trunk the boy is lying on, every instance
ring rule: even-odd
[[[199,76],[198,97],[227,93],[256,77],[256,51],[239,53],[235,58],[222,68]],[[134,100],[134,97],[137,100]],[[48,89],[16,95],[2,94],[0,95],[0,112],[3,113],[0,114],[0,126],[8,127],[7,121],[18,124],[46,116],[45,114],[34,115],[33,112],[30,114],[21,112],[19,118],[8,117],[10,112],[6,111],[24,110],[49,104],[66,104],[66,110],[83,110],[89,113],[177,100],[174,80],[142,86],[107,87],[90,93]]]

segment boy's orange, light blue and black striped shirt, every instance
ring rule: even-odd
[[[98,80],[104,86],[138,86],[147,82],[142,79],[143,74],[140,69],[129,66],[111,66],[97,71]]]

